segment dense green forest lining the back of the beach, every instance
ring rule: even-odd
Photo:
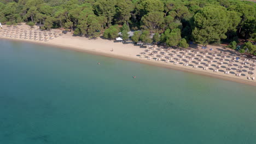
[[[91,38],[114,39],[121,32],[124,40],[133,30],[135,42],[188,47],[188,41],[225,41],[236,49],[238,38],[255,41],[255,6],[238,0],[0,0],[0,22],[71,29]],[[256,55],[256,46],[248,41],[240,52]]]

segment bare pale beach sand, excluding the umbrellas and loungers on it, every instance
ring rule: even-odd
[[[29,29],[29,27],[24,24],[21,26],[18,26],[18,27],[23,28],[23,29]],[[3,29],[7,29],[7,27],[4,25]],[[3,32],[3,29],[1,30],[2,32]],[[36,27],[35,29],[38,29],[38,27]],[[57,30],[54,30],[54,31],[56,32]],[[61,33],[61,31],[57,31],[57,32]],[[135,46],[133,44],[115,43],[113,40],[106,40],[106,39],[102,39],[102,38],[89,39],[89,38],[85,38],[85,37],[74,37],[72,35],[72,33],[70,33],[70,32],[68,32],[67,34],[63,34],[60,37],[50,39],[49,41],[10,38],[10,37],[5,37],[4,35],[0,35],[0,38],[17,40],[17,41],[27,41],[29,43],[36,43],[36,44],[43,44],[43,45],[51,45],[51,46],[65,48],[65,49],[72,49],[72,50],[76,50],[76,51],[84,51],[84,52],[89,52],[89,53],[93,53],[96,55],[115,57],[115,58],[124,59],[127,61],[134,61],[134,62],[139,62],[139,63],[144,63],[144,64],[155,65],[158,67],[165,67],[165,68],[177,69],[177,70],[182,70],[182,71],[188,71],[190,73],[206,75],[206,76],[216,77],[218,79],[235,81],[235,82],[240,82],[240,83],[245,83],[248,85],[256,86],[256,80],[252,80],[252,79],[248,80],[247,79],[247,76],[250,76],[248,74],[248,71],[251,71],[251,70],[248,70],[248,68],[251,67],[249,64],[247,64],[246,71],[242,72],[242,74],[243,74],[242,76],[236,76],[235,74],[224,74],[224,71],[226,71],[226,68],[220,68],[219,69],[220,71],[218,71],[216,73],[213,71],[213,69],[203,70],[203,67],[204,67],[203,64],[198,65],[200,68],[193,68],[193,66],[189,66],[189,65],[184,66],[183,64],[185,62],[183,62],[183,61],[178,62],[178,64],[175,65],[171,62],[165,63],[162,61],[155,61],[154,59],[149,60],[147,58],[144,58],[143,55],[142,55],[143,57],[141,58],[138,55],[141,55],[142,52],[144,52],[145,50],[149,50],[149,49],[141,48],[141,47]],[[215,47],[211,46],[211,47],[214,48],[214,51],[208,51],[209,53],[210,52],[211,53],[218,52],[216,46]],[[111,51],[112,49],[113,49],[113,51]],[[195,49],[191,48],[191,51],[194,51],[194,50],[200,50],[200,48],[198,46]],[[175,51],[175,50],[172,49],[170,51]],[[229,51],[230,50],[228,50],[228,52],[225,52],[225,54],[222,53],[221,55],[222,56],[223,55],[230,56],[232,53],[235,53],[235,51],[231,51],[231,53]],[[165,52],[165,51],[163,51],[163,52]],[[180,52],[182,53],[185,51],[177,51],[177,52],[178,52],[177,55],[181,55]],[[194,52],[188,52],[188,53],[191,54]],[[146,54],[148,54],[148,53],[146,52]],[[159,55],[159,54],[156,54],[156,55]],[[201,52],[201,53],[199,52],[198,55],[203,56],[203,52]],[[211,55],[207,54],[206,56],[211,56]],[[221,58],[221,56],[216,56],[216,57]],[[231,57],[234,57],[234,56],[230,56],[230,58]],[[195,58],[200,59],[201,57],[196,55]],[[194,60],[191,60],[191,61],[194,61]],[[219,61],[217,61],[217,62],[219,62]],[[242,62],[242,61],[239,60],[239,62]],[[179,64],[179,63],[181,63],[181,64]],[[203,61],[201,63],[203,63]],[[216,63],[213,62],[211,64],[216,64]],[[249,61],[249,63],[253,63],[253,62]],[[189,64],[195,65],[195,63],[192,63],[192,62]],[[234,62],[233,64],[239,65],[239,63],[236,63],[236,62]],[[222,64],[220,66],[223,66],[223,65],[225,65],[225,67],[227,67],[226,64]],[[209,67],[209,68],[211,68],[211,67]],[[231,68],[233,68],[233,67],[231,67]],[[244,68],[242,68],[242,69],[244,69]],[[234,73],[237,73],[236,70],[230,70],[230,71],[234,71]],[[256,71],[252,70],[252,72],[254,74],[251,75],[251,77],[256,77],[256,75],[255,75]]]

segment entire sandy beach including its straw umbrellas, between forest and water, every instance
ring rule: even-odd
[[[201,50],[198,46],[187,50],[158,46],[141,48],[133,44],[115,43],[113,40],[102,38],[74,37],[70,32],[62,35],[61,31],[57,29],[41,32],[38,27],[32,31],[29,31],[29,26],[26,25],[20,25],[18,28],[19,30],[13,31],[14,29],[4,25],[3,29],[0,29],[0,39],[52,45],[256,86],[256,80],[253,80],[253,77],[254,79],[256,77],[255,59],[245,57],[236,59],[238,56],[235,55],[235,51],[231,50],[223,50],[225,52],[219,53],[221,50],[214,46],[211,46],[212,51]],[[7,34],[10,33],[7,29],[11,29],[10,31],[13,33]],[[24,33],[31,37],[28,38],[28,36],[25,39]],[[39,33],[42,33],[42,40],[39,40]],[[20,37],[11,35],[20,35]]]

